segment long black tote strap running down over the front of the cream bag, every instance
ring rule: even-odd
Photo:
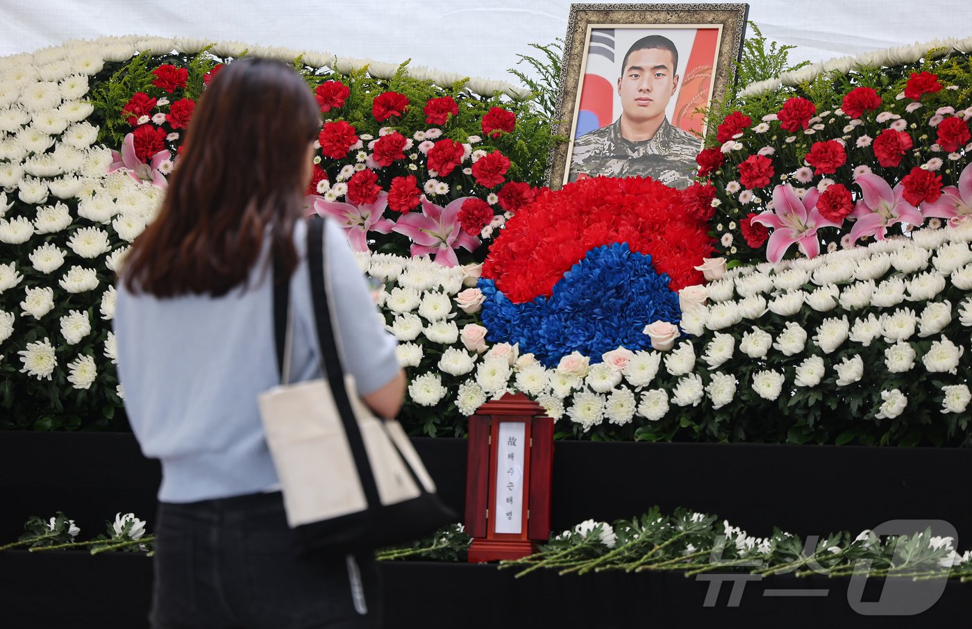
[[[324,257],[324,219],[312,217],[307,224],[307,264],[310,267],[310,293],[314,300],[314,321],[317,327],[317,340],[321,346],[321,371],[328,379],[330,393],[334,404],[344,424],[344,432],[348,437],[351,454],[355,458],[358,477],[364,489],[364,498],[368,507],[379,507],[378,487],[375,484],[371,465],[368,463],[367,451],[364,449],[364,439],[358,420],[351,407],[348,391],[344,386],[344,368],[337,349],[334,336],[334,322],[330,310],[333,296],[330,295],[330,283],[327,282]]]

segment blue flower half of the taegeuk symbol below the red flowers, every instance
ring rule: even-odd
[[[651,256],[632,252],[627,243],[597,247],[564,273],[550,297],[513,303],[493,280],[480,279],[486,296],[482,321],[487,338],[519,343],[546,367],[556,367],[573,351],[600,363],[618,346],[651,346],[644,326],[654,321],[678,324],[678,296],[670,278],[656,273]]]

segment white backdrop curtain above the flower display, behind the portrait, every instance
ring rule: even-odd
[[[513,81],[531,43],[563,38],[569,0],[0,0],[0,55],[68,39],[162,35],[330,52]],[[968,0],[749,0],[794,59],[972,36]]]

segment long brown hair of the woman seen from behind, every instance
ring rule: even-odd
[[[293,69],[260,58],[228,64],[192,114],[158,218],[132,243],[128,290],[226,295],[245,284],[268,228],[271,253],[290,275],[304,161],[320,126],[321,110]]]

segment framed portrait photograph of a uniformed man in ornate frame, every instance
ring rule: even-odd
[[[558,113],[569,141],[550,186],[584,177],[691,185],[699,110],[722,98],[742,52],[746,4],[571,5]]]

